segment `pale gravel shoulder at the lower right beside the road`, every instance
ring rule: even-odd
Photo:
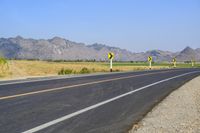
[[[129,133],[200,133],[200,76],[172,92]]]

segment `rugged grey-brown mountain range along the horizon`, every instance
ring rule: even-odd
[[[40,60],[107,60],[107,53],[115,53],[118,61],[146,61],[148,56],[153,56],[154,61],[177,60],[200,61],[200,48],[186,47],[180,52],[150,50],[147,52],[133,53],[126,49],[110,47],[103,44],[85,45],[60,37],[52,39],[25,39],[21,36],[15,38],[0,38],[0,54],[6,58],[40,59]]]

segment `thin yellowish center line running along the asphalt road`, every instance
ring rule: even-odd
[[[171,70],[169,70],[169,71],[171,71]],[[82,83],[82,84],[70,85],[70,86],[63,86],[63,87],[46,89],[46,90],[40,90],[40,91],[32,91],[32,92],[15,94],[15,95],[10,95],[10,96],[3,96],[3,97],[0,97],[0,100],[17,98],[17,97],[22,97],[22,96],[34,95],[34,94],[40,94],[40,93],[45,93],[45,92],[52,92],[52,91],[64,90],[64,89],[68,89],[68,88],[74,88],[74,87],[80,87],[80,86],[86,86],[86,85],[104,83],[104,82],[109,82],[109,81],[116,81],[116,80],[121,80],[121,79],[128,79],[128,78],[134,78],[134,77],[140,77],[140,76],[146,76],[146,75],[153,75],[153,74],[158,74],[158,73],[167,73],[169,71],[153,72],[153,73],[146,73],[146,74],[140,74],[140,75],[132,75],[132,76],[127,76],[127,77],[105,79],[105,80],[100,80],[100,81],[94,81],[94,82],[88,82],[88,83]],[[176,71],[181,71],[181,70],[176,70]]]

